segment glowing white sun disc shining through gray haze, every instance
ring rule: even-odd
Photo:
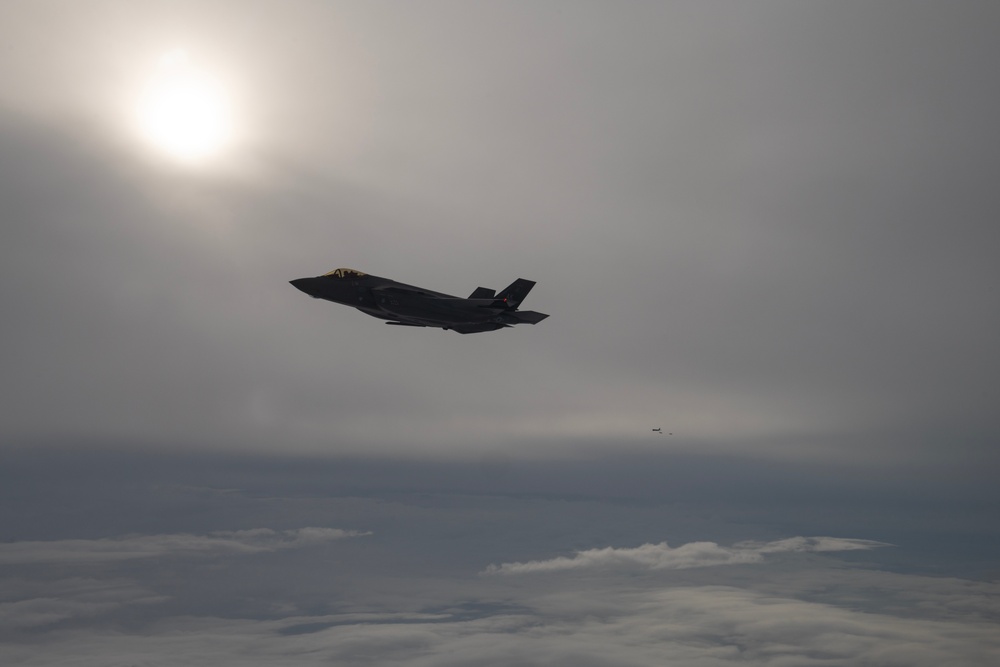
[[[216,155],[231,135],[221,84],[174,49],[160,56],[139,102],[143,136],[168,155],[197,161]]]

